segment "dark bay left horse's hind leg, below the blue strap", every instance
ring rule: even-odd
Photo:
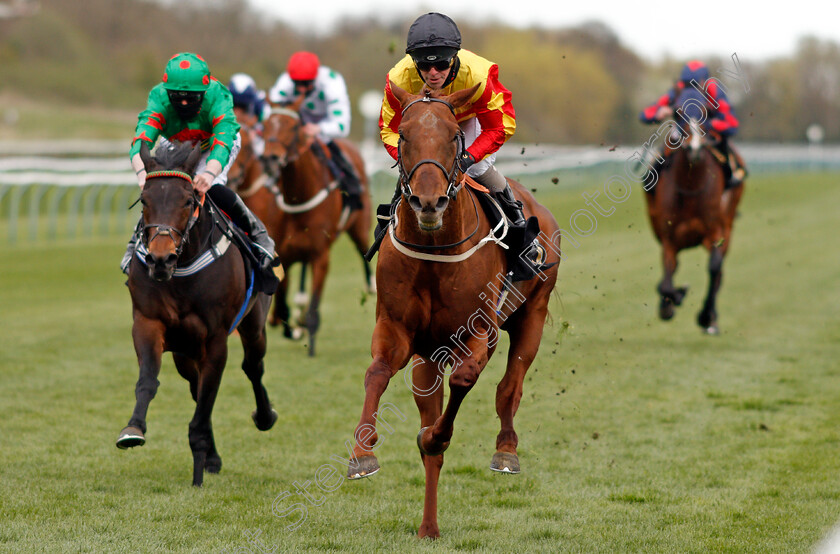
[[[260,295],[251,311],[239,323],[239,337],[245,356],[242,360],[242,371],[251,381],[254,388],[254,398],[257,409],[251,414],[251,419],[260,431],[268,431],[277,421],[277,412],[271,407],[268,392],[262,383],[265,373],[266,335],[265,318],[270,298]]]

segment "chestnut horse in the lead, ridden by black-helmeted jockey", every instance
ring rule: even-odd
[[[456,185],[463,135],[454,113],[476,88],[439,97],[438,93],[415,96],[393,83],[391,88],[402,106],[398,160],[402,197],[379,250],[373,363],[365,374],[365,401],[348,478],[379,470],[373,453],[379,446],[375,428],[379,400],[390,379],[413,358],[411,375],[405,377],[420,411],[417,444],[426,471],[418,534],[437,537],[443,451],[462,401],[495,351],[499,328],[510,337],[510,352],[496,389],[501,430],[490,467],[519,472],[513,418],[525,373],[540,345],[557,266],[529,281],[505,279],[504,250],[489,244],[498,243],[498,237],[476,207],[476,193]],[[558,237],[551,213],[519,183],[510,183],[526,215],[537,216],[542,231]],[[559,240],[549,245],[549,262],[559,261],[558,245]],[[451,394],[444,410],[442,384],[447,375]]]

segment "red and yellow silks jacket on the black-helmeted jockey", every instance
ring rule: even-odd
[[[511,103],[511,93],[499,82],[499,67],[469,50],[458,52],[452,71],[455,77],[443,88],[445,94],[480,85],[472,103],[455,110],[458,123],[475,117],[481,125],[481,134],[467,148],[480,161],[486,155],[495,153],[516,131],[516,113]],[[397,159],[397,128],[402,114],[400,104],[391,92],[390,81],[412,94],[420,94],[425,83],[410,55],[406,55],[388,72],[379,127],[385,148],[391,157]]]

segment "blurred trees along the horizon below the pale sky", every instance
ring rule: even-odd
[[[31,17],[0,21],[0,91],[71,105],[140,111],[169,57],[200,53],[214,76],[251,74],[268,89],[294,51],[316,52],[347,81],[353,137],[361,137],[359,96],[380,90],[403,55],[410,21],[351,19],[316,37],[267,21],[245,0],[41,0]],[[639,111],[665,92],[685,60],[644,61],[608,27],[517,30],[459,22],[465,48],[499,64],[513,92],[518,142],[633,144],[653,128]],[[713,70],[730,59],[705,60]],[[744,93],[724,80],[742,121],[739,140],[803,141],[818,123],[840,140],[840,46],[803,38],[789,58],[741,59]]]

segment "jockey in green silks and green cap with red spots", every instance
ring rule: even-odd
[[[162,81],[151,90],[146,109],[138,116],[129,150],[137,184],[142,188],[146,183],[146,169],[140,158],[140,145],[144,141],[150,150],[158,137],[162,146],[167,141],[200,142],[203,154],[193,179],[195,189],[207,193],[248,234],[262,272],[269,280],[276,279],[271,269],[274,241],[239,196],[225,186],[240,144],[230,92],[210,76],[207,63],[192,53],[173,56],[166,64]],[[128,273],[137,239],[135,233],[120,264],[124,273]]]

